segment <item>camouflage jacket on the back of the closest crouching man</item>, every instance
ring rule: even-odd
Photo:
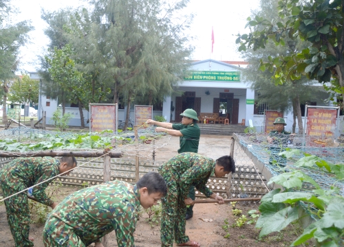
[[[139,196],[136,185],[120,180],[81,189],[67,196],[53,209],[45,231],[54,235],[64,229],[67,235],[70,230],[88,246],[115,230],[118,246],[134,246]],[[50,220],[57,221],[58,226],[49,224]]]

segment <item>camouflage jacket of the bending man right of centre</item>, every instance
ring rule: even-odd
[[[189,187],[195,186],[209,198],[213,191],[206,187],[208,178],[214,175],[216,162],[200,154],[185,152],[178,154],[159,167],[158,172],[164,177],[167,187],[171,180],[176,180],[183,198],[188,197]]]

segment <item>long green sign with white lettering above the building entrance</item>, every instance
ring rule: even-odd
[[[189,71],[184,80],[240,82],[240,71]]]

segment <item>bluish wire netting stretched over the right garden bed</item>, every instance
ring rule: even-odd
[[[302,135],[288,134],[265,134],[265,133],[249,133],[236,134],[236,144],[241,149],[247,149],[248,158],[255,158],[264,164],[264,168],[268,169],[271,176],[277,176],[283,172],[289,172],[297,169],[304,174],[313,178],[321,189],[330,189],[332,185],[336,185],[341,189],[344,196],[344,182],[334,176],[333,173],[326,172],[325,169],[319,167],[299,167],[295,163],[305,156],[305,154],[315,155],[321,160],[331,164],[344,165],[344,145],[339,143],[333,137],[313,137]],[[284,158],[280,155],[287,148],[299,150],[299,154],[294,154],[291,158]],[[238,158],[238,156],[235,156]],[[255,165],[252,163],[252,165]],[[314,187],[305,184],[302,190],[308,191]]]

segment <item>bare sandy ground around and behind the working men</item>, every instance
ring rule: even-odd
[[[199,153],[211,158],[218,158],[229,154],[230,137],[224,136],[206,136],[202,135],[200,139]],[[175,156],[179,147],[179,139],[172,137],[169,145],[165,145],[157,151],[156,160],[166,161]],[[56,201],[61,201],[72,191],[78,190],[80,187],[61,187],[58,192]],[[250,207],[237,205],[247,215]],[[160,226],[151,227],[142,215],[136,226],[135,245],[137,247],[155,247],[160,246]],[[281,233],[272,234],[264,239],[258,239],[259,230],[254,228],[252,224],[246,224],[241,228],[231,227],[238,217],[232,214],[232,206],[230,204],[196,204],[194,207],[194,215],[191,220],[186,222],[186,234],[193,241],[200,242],[201,246],[290,246],[293,239],[296,239],[295,232],[299,229],[289,229]],[[228,219],[228,224],[225,220]],[[227,235],[223,226],[228,227]],[[42,230],[44,224],[31,224],[30,236],[34,237],[34,246],[42,247]],[[227,235],[225,238],[224,236]],[[110,246],[117,246],[115,233],[109,234]],[[10,228],[6,220],[6,209],[3,203],[0,204],[0,246],[14,246],[14,241],[10,233]],[[176,246],[176,245],[174,245]]]

